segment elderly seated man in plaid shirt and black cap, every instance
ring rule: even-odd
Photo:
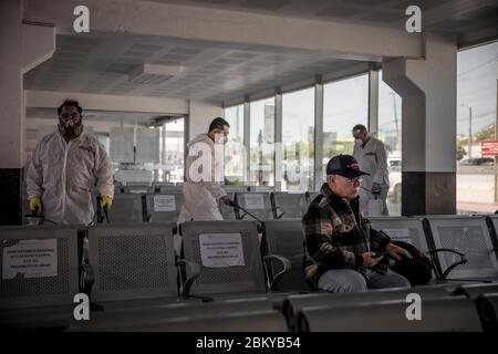
[[[330,292],[409,288],[406,278],[387,268],[385,256],[412,258],[405,249],[370,229],[359,211],[361,176],[356,159],[339,155],[326,165],[326,183],[302,219],[307,279]]]

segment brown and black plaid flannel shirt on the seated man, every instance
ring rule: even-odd
[[[304,232],[303,270],[311,284],[330,269],[355,269],[364,273],[367,251],[385,252],[388,238],[370,228],[359,210],[359,197],[350,202],[332,192],[326,184],[310,204],[302,219]],[[383,261],[372,268],[385,273]]]

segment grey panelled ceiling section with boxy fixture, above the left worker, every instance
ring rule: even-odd
[[[328,55],[152,35],[58,35],[54,55],[24,75],[24,87],[221,102],[356,64]],[[128,74],[143,63],[183,70],[159,84],[129,81]]]

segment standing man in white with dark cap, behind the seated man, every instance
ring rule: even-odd
[[[386,197],[390,190],[390,173],[387,170],[387,156],[384,144],[369,134],[366,127],[356,124],[353,127],[355,139],[353,156],[360,168],[369,176],[364,176],[360,189],[360,210],[369,215],[369,202],[372,199],[382,201],[382,215],[388,215]]]

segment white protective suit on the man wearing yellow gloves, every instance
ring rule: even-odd
[[[56,131],[37,145],[27,173],[28,197],[41,196],[44,217],[56,223],[89,225],[94,216],[90,190],[114,197],[111,160],[84,132],[65,143]]]

